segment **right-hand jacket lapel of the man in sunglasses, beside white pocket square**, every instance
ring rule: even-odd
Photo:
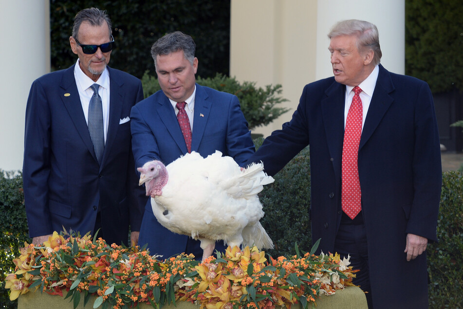
[[[117,136],[117,130],[119,129],[119,121],[122,111],[122,104],[124,102],[124,81],[121,78],[115,78],[115,71],[108,68],[110,75],[110,121],[108,124],[108,134],[106,135],[105,151],[101,159],[101,165],[105,163],[107,157],[111,154],[111,147],[114,144],[114,140]]]

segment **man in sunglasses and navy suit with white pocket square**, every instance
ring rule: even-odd
[[[99,229],[108,243],[129,245],[130,226],[136,244],[146,197],[137,188],[129,115],[143,99],[142,85],[107,66],[114,40],[106,12],[77,13],[69,40],[76,64],[35,80],[27,101],[23,180],[29,236],[41,244],[63,227],[81,235]],[[93,126],[99,128],[94,135]]]

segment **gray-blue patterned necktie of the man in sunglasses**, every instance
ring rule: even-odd
[[[105,149],[105,134],[103,129],[103,107],[101,105],[101,97],[98,94],[100,85],[93,84],[93,96],[89,104],[89,132],[92,138],[93,149],[95,150],[98,164],[101,163],[101,157]]]

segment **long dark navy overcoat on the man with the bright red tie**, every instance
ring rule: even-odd
[[[276,174],[310,144],[312,239],[333,252],[341,219],[344,85],[334,77],[304,87],[290,122],[247,163]],[[380,65],[358,151],[375,308],[427,308],[426,254],[406,261],[407,233],[436,240],[440,142],[428,85]],[[412,278],[412,279],[411,279]]]

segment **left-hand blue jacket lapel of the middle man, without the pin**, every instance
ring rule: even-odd
[[[157,102],[161,107],[157,109],[159,118],[164,123],[172,139],[175,141],[177,146],[180,148],[183,154],[186,154],[188,150],[186,149],[185,138],[183,137],[182,130],[180,129],[179,122],[175,116],[174,108],[170,103],[169,99],[162,94],[160,100]]]

